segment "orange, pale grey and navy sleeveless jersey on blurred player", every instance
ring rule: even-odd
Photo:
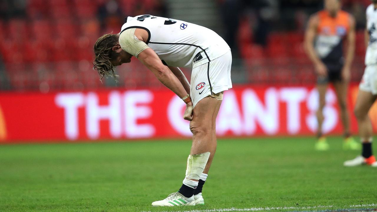
[[[329,70],[339,70],[343,66],[343,39],[350,27],[350,15],[339,11],[331,17],[325,10],[318,12],[319,24],[315,48],[317,55]]]

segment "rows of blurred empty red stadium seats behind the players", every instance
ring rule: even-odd
[[[109,32],[120,30],[123,17],[101,20],[99,10],[106,0],[29,0],[26,17],[0,20],[0,55],[5,63],[11,87],[16,90],[97,89],[101,83],[92,70],[93,44]],[[157,0],[119,0],[121,15],[153,11]],[[115,17],[115,22],[114,22]],[[119,17],[120,20],[116,19]],[[101,20],[101,21],[98,21]],[[119,23],[118,23],[118,22]],[[106,24],[107,23],[107,24]],[[357,32],[355,67],[362,69],[365,52],[363,32]],[[250,83],[313,82],[315,76],[303,50],[302,32],[273,32],[265,47],[253,42],[247,20],[240,23],[239,51]],[[136,88],[161,86],[137,60],[118,68],[122,71],[118,86]],[[140,74],[140,73],[143,74]],[[184,70],[187,76],[189,72]],[[354,75],[359,80],[359,75]]]

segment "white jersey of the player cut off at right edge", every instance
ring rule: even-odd
[[[369,44],[365,54],[365,65],[377,64],[377,10],[371,4],[366,8],[366,28],[369,32]]]

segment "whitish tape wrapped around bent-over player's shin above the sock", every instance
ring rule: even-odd
[[[207,164],[210,152],[205,152],[197,155],[189,155],[187,158],[186,178],[199,180],[202,175],[205,165]]]

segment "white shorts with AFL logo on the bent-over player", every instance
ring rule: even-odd
[[[232,54],[229,50],[224,55],[192,69],[190,96],[193,108],[203,98],[232,88],[231,65]]]

